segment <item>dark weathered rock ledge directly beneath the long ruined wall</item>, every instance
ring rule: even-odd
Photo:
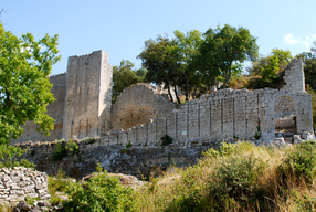
[[[97,162],[108,172],[119,172],[137,176],[141,179],[148,177],[157,168],[166,169],[171,165],[187,167],[194,165],[202,152],[211,147],[219,147],[219,144],[204,144],[188,148],[183,144],[158,146],[136,144],[130,148],[126,145],[109,145],[106,140],[98,138],[92,144],[88,140],[78,142],[78,155],[63,158],[61,161],[53,161],[52,155],[56,142],[41,142],[22,145],[21,148],[29,148],[32,155],[24,153],[24,158],[38,165],[36,169],[48,174],[56,174],[60,169],[66,176],[81,179],[96,171]]]

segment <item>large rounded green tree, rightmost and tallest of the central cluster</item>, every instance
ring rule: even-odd
[[[200,45],[197,59],[201,72],[218,88],[225,87],[236,70],[233,68],[235,65],[240,66],[244,61],[254,61],[257,57],[259,47],[255,42],[256,38],[242,26],[225,24],[223,28],[209,29],[204,33],[204,41]],[[217,81],[219,76],[221,85]]]

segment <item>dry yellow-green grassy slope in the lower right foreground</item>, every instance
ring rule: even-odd
[[[295,148],[223,145],[207,151],[196,166],[152,179],[133,199],[139,211],[148,212],[314,211],[315,183],[308,187],[303,179],[297,184],[288,172],[288,178],[280,178],[280,166]]]

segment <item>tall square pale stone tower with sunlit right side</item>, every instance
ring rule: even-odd
[[[108,130],[112,75],[105,51],[69,57],[63,138],[95,137]]]

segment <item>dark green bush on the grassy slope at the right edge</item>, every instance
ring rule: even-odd
[[[302,180],[313,183],[316,174],[316,141],[305,141],[289,150],[278,166],[278,173],[282,179],[293,178],[297,183]]]

